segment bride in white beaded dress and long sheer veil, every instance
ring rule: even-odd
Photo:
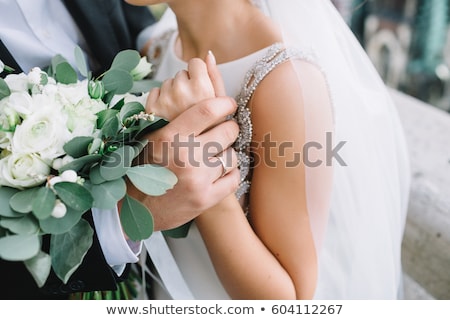
[[[165,87],[189,79],[193,58],[216,61],[226,92],[214,68],[205,90],[236,97],[241,184],[186,237],[166,235],[166,253],[150,250],[181,272],[162,276],[155,298],[176,298],[173,287],[195,299],[401,298],[403,132],[329,0],[167,3],[148,56],[155,79],[171,79],[148,108],[173,118]]]

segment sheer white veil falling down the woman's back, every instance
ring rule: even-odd
[[[323,109],[304,111],[307,140],[330,143],[318,138],[319,121],[319,131],[332,132],[338,151],[332,189],[323,188],[327,168],[306,168],[308,211],[319,254],[316,297],[398,297],[410,171],[389,92],[329,0],[253,3],[279,24],[286,46],[312,52],[328,82],[332,128],[320,123]],[[298,78],[307,81],[301,70]],[[324,160],[330,160],[332,148],[325,149]]]

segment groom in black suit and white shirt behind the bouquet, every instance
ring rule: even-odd
[[[0,6],[0,60],[17,72],[28,71],[30,66],[45,67],[54,52],[61,53],[69,47],[73,51],[73,47],[79,45],[88,55],[91,68],[100,74],[108,69],[119,51],[143,48],[146,35],[151,32],[155,22],[148,8],[134,7],[122,0],[0,0]],[[164,150],[158,148],[158,144],[173,142],[175,134],[178,134],[177,139],[182,139],[182,135],[188,137],[192,132],[201,132],[199,140],[202,144],[219,140],[218,135],[227,136],[230,140],[228,145],[231,145],[238,129],[230,122],[223,122],[223,119],[234,110],[235,103],[228,98],[216,98],[194,105],[148,137],[154,145],[152,156],[167,156],[155,154],[158,150]],[[198,119],[203,121],[199,124]],[[183,124],[184,132],[178,131],[179,124]],[[206,138],[203,132],[211,125],[216,125],[214,134],[210,131]],[[202,150],[204,148],[199,147],[193,152],[201,153]],[[196,156],[202,157],[201,154]],[[234,174],[220,177],[221,168],[204,164],[193,167],[194,164],[187,159],[184,168],[171,167],[170,163],[176,161],[167,162],[168,168],[177,174],[179,181],[170,193],[145,201],[154,215],[155,230],[170,229],[193,219],[233,192],[238,185],[236,168]],[[96,231],[109,228],[103,224],[94,224],[90,212],[84,218]],[[123,238],[122,234],[114,234],[116,236]],[[44,246],[47,240],[44,239]],[[68,283],[61,283],[52,274],[43,288],[36,286],[23,263],[0,259],[0,281],[3,284],[13,283],[12,286],[2,287],[0,298],[64,299],[74,292],[115,290],[116,283],[127,275],[126,269],[113,270],[107,262],[109,253],[105,248],[109,246],[109,251],[114,251],[115,240],[110,238],[99,241],[96,232],[83,264]],[[127,261],[127,258],[123,261]]]

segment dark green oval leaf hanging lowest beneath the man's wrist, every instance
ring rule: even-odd
[[[153,233],[151,212],[139,201],[125,196],[120,211],[120,222],[124,232],[133,241],[144,240]]]

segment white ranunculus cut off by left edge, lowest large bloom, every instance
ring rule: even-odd
[[[45,182],[50,167],[35,154],[11,154],[0,160],[0,185],[30,188]]]

